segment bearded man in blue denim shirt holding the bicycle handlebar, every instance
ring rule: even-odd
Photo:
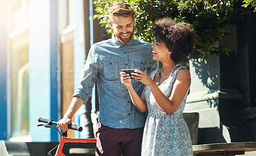
[[[145,114],[131,102],[129,92],[120,82],[122,69],[139,68],[148,72],[154,67],[149,43],[134,39],[136,10],[118,2],[109,8],[111,39],[95,43],[84,66],[84,78],[73,95],[70,107],[58,122],[67,131],[71,118],[88,100],[97,80],[99,92],[99,124],[96,129],[96,155],[140,155]],[[133,80],[134,89],[141,94],[142,83]]]

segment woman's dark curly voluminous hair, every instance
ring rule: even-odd
[[[164,42],[172,52],[174,62],[182,62],[194,53],[195,31],[188,23],[164,17],[154,23],[152,31],[156,40]]]

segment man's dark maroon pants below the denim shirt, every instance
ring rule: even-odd
[[[96,127],[95,155],[136,156],[141,152],[143,128],[113,129],[102,124]]]

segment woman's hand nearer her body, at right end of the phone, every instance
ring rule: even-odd
[[[135,73],[131,73],[131,74],[132,74],[132,78],[134,78],[136,81],[141,82],[145,85],[150,85],[152,84],[152,82],[154,82],[152,78],[150,78],[150,76],[144,71],[135,70],[134,72]]]

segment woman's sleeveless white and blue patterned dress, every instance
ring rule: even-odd
[[[181,68],[176,69],[172,76],[159,85],[159,89],[166,97],[170,96],[177,71]],[[157,71],[158,69],[152,72],[150,76],[152,80]],[[148,116],[143,132],[141,156],[193,155],[189,129],[182,116],[187,96],[188,91],[179,108],[167,115],[156,103],[156,99],[149,87],[146,87],[145,99],[147,101]]]

